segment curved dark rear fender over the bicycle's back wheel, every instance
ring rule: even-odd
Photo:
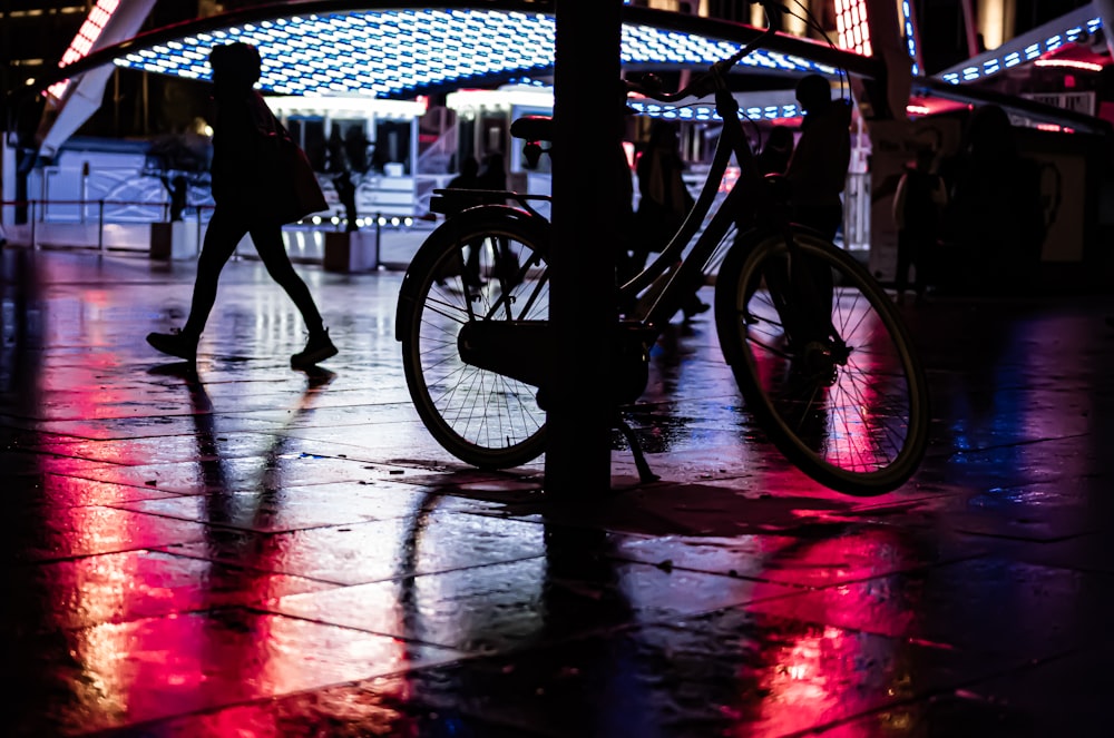
[[[410,260],[402,277],[394,312],[395,341],[402,341],[410,329],[418,292],[422,288],[423,278],[436,266],[433,262],[443,250],[443,243],[459,240],[461,232],[475,233],[478,229],[499,227],[519,230],[531,239],[538,252],[548,257],[549,222],[544,217],[509,205],[477,205],[461,210],[434,228]]]

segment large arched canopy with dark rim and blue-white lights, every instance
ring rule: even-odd
[[[256,6],[159,29],[118,45],[110,56],[92,57],[107,56],[100,63],[207,79],[213,46],[246,41],[260,49],[260,86],[267,92],[395,99],[553,72],[550,2],[352,6],[335,1]],[[644,8],[625,8],[624,13],[622,60],[627,68],[706,66],[758,32],[739,23]],[[75,68],[97,61],[92,57]],[[831,76],[838,68],[873,76],[871,60],[781,35],[741,66],[790,76],[811,71]]]

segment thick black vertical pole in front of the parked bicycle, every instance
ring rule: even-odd
[[[622,0],[557,0],[546,490],[610,488],[613,407],[606,398],[617,314]]]

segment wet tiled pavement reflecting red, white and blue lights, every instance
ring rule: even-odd
[[[1114,299],[908,309],[932,445],[829,492],[705,315],[633,416],[663,481],[557,499],[409,404],[401,275],[302,267],[341,353],[229,265],[196,375],[143,340],[192,272],[0,253],[14,736],[1097,736],[1114,634]]]

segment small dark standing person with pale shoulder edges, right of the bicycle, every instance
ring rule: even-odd
[[[898,269],[895,286],[898,302],[909,288],[909,267],[916,273],[913,292],[919,303],[925,296],[926,272],[939,237],[940,214],[948,201],[944,178],[932,171],[936,151],[917,150],[912,165],[906,165],[893,194],[893,225],[898,229]]]

